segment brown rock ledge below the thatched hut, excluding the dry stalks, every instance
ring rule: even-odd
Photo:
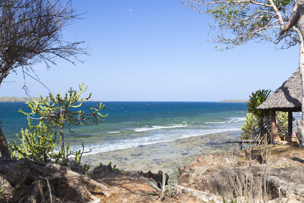
[[[273,156],[269,158],[270,150]],[[268,158],[265,153],[261,153],[260,147],[251,153],[243,150],[228,155],[202,155],[183,169],[179,168],[178,185],[216,195],[220,195],[221,191],[230,198],[233,180],[229,178],[229,173],[234,175],[234,180],[246,180],[245,174],[250,166],[254,179],[261,180],[261,176],[265,175],[261,183],[263,190],[266,186],[269,199],[293,196],[294,200],[304,202],[303,150],[272,145],[268,150]]]

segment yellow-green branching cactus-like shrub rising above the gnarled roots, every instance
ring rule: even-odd
[[[61,92],[54,96],[52,93],[49,93],[45,99],[40,95],[40,101],[33,100],[26,102],[26,105],[29,109],[31,109],[31,113],[26,113],[19,109],[19,112],[25,114],[29,121],[29,129],[25,129],[25,131],[21,131],[22,138],[19,138],[17,134],[17,138],[22,141],[20,146],[17,146],[16,141],[14,141],[13,145],[9,146],[11,148],[11,156],[13,159],[17,160],[20,158],[26,158],[34,161],[41,162],[50,162],[54,161],[57,164],[67,166],[70,155],[75,155],[75,161],[81,166],[81,156],[84,152],[84,143],[82,145],[82,152],[79,150],[78,152],[72,152],[69,150],[69,143],[64,145],[64,125],[68,124],[68,129],[70,133],[74,133],[71,131],[71,124],[73,125],[92,125],[92,122],[96,125],[98,121],[104,121],[101,117],[106,117],[106,115],[102,115],[99,111],[103,110],[105,105],[100,103],[96,105],[96,107],[88,107],[86,112],[78,110],[72,111],[72,108],[81,107],[82,101],[88,100],[91,97],[91,94],[84,99],[81,99],[81,93],[83,93],[86,87],[83,87],[84,83],[79,85],[79,91],[75,91],[72,88],[65,93],[63,97]],[[77,101],[81,101],[80,104],[75,105]],[[38,115],[39,118],[34,118],[32,115]],[[39,124],[36,126],[32,125],[32,120],[39,120]],[[59,128],[60,138],[57,137],[57,128]],[[53,152],[57,144],[60,142],[61,151]]]

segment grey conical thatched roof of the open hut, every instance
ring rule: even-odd
[[[301,111],[302,82],[299,68],[283,85],[275,90],[264,103],[257,107],[260,110]]]

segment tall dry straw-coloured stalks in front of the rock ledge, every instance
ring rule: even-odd
[[[260,150],[252,148],[243,151],[233,151],[226,154],[226,173],[232,197],[242,199],[244,202],[266,202],[269,199],[267,178],[269,177],[269,163],[271,150],[268,146]],[[258,153],[253,154],[253,153]],[[254,165],[260,162],[259,171]]]

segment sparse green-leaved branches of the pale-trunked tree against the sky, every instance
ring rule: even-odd
[[[273,42],[277,48],[289,48],[302,40],[298,24],[281,36],[279,30],[288,22],[295,1],[290,0],[185,0],[190,10],[206,13],[212,42],[223,46],[220,51],[256,42]],[[217,48],[217,47],[216,47]]]

